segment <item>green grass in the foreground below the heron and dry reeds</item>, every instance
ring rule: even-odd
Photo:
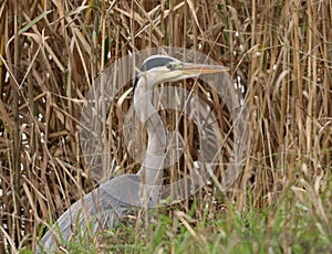
[[[330,202],[329,193],[329,189],[322,193],[323,203]],[[255,208],[251,199],[245,211],[238,211],[231,203],[226,210],[207,205],[201,220],[193,216],[197,201],[194,200],[188,213],[162,209],[148,225],[122,223],[94,236],[81,233],[64,243],[63,250],[69,253],[329,253],[331,224],[324,223],[310,201],[310,190],[302,194],[307,202],[299,203],[294,190],[288,188],[273,205]],[[324,212],[331,220],[331,205],[326,208]]]

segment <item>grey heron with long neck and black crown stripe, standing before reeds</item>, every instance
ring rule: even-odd
[[[45,233],[40,245],[46,251],[55,251],[56,242],[71,237],[72,223],[76,223],[79,229],[92,223],[93,231],[110,229],[134,208],[157,208],[166,134],[163,120],[152,104],[153,88],[163,82],[225,71],[228,71],[225,66],[184,63],[167,55],[147,57],[134,84],[134,110],[148,135],[146,156],[139,171],[115,177],[76,201],[59,218],[56,226]]]

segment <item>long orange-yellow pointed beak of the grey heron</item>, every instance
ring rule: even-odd
[[[181,63],[178,66],[178,71],[184,72],[186,75],[193,74],[215,74],[229,71],[229,67],[221,65],[208,65],[208,64],[193,64],[193,63]]]

